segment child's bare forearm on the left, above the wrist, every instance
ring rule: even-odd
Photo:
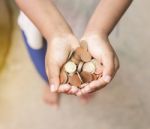
[[[43,36],[71,33],[69,25],[51,0],[16,0],[19,8],[33,21]]]

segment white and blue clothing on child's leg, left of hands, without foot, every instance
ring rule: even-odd
[[[46,41],[43,40],[39,30],[23,12],[19,15],[18,24],[22,30],[26,47],[37,71],[45,81],[48,81],[45,73]]]

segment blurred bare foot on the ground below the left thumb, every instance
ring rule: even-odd
[[[52,93],[50,92],[50,89],[48,86],[44,87],[43,100],[46,104],[53,106],[53,107],[58,107],[59,99],[60,99],[59,93]]]

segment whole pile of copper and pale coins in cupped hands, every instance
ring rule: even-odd
[[[102,65],[88,52],[85,41],[81,41],[80,47],[70,52],[67,62],[60,71],[60,83],[68,83],[81,88],[84,83],[97,80],[102,75]]]

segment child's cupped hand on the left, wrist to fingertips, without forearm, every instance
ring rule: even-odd
[[[51,92],[69,92],[75,94],[78,88],[69,84],[59,84],[59,72],[69,53],[79,47],[79,42],[72,34],[57,35],[48,41],[46,53],[46,72]]]

